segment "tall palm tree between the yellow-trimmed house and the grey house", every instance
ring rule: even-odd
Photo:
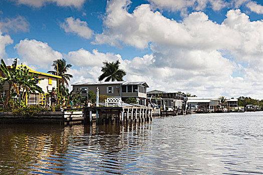
[[[69,86],[68,80],[70,81],[70,78],[72,78],[73,75],[68,74],[67,71],[69,70],[69,68],[72,65],[67,64],[66,60],[64,58],[62,58],[62,59],[57,59],[57,60],[53,61],[52,66],[53,66],[55,71],[50,70],[50,71],[48,71],[48,73],[61,76],[62,77],[61,83],[62,84],[66,83],[67,88],[68,88],[68,86]]]

